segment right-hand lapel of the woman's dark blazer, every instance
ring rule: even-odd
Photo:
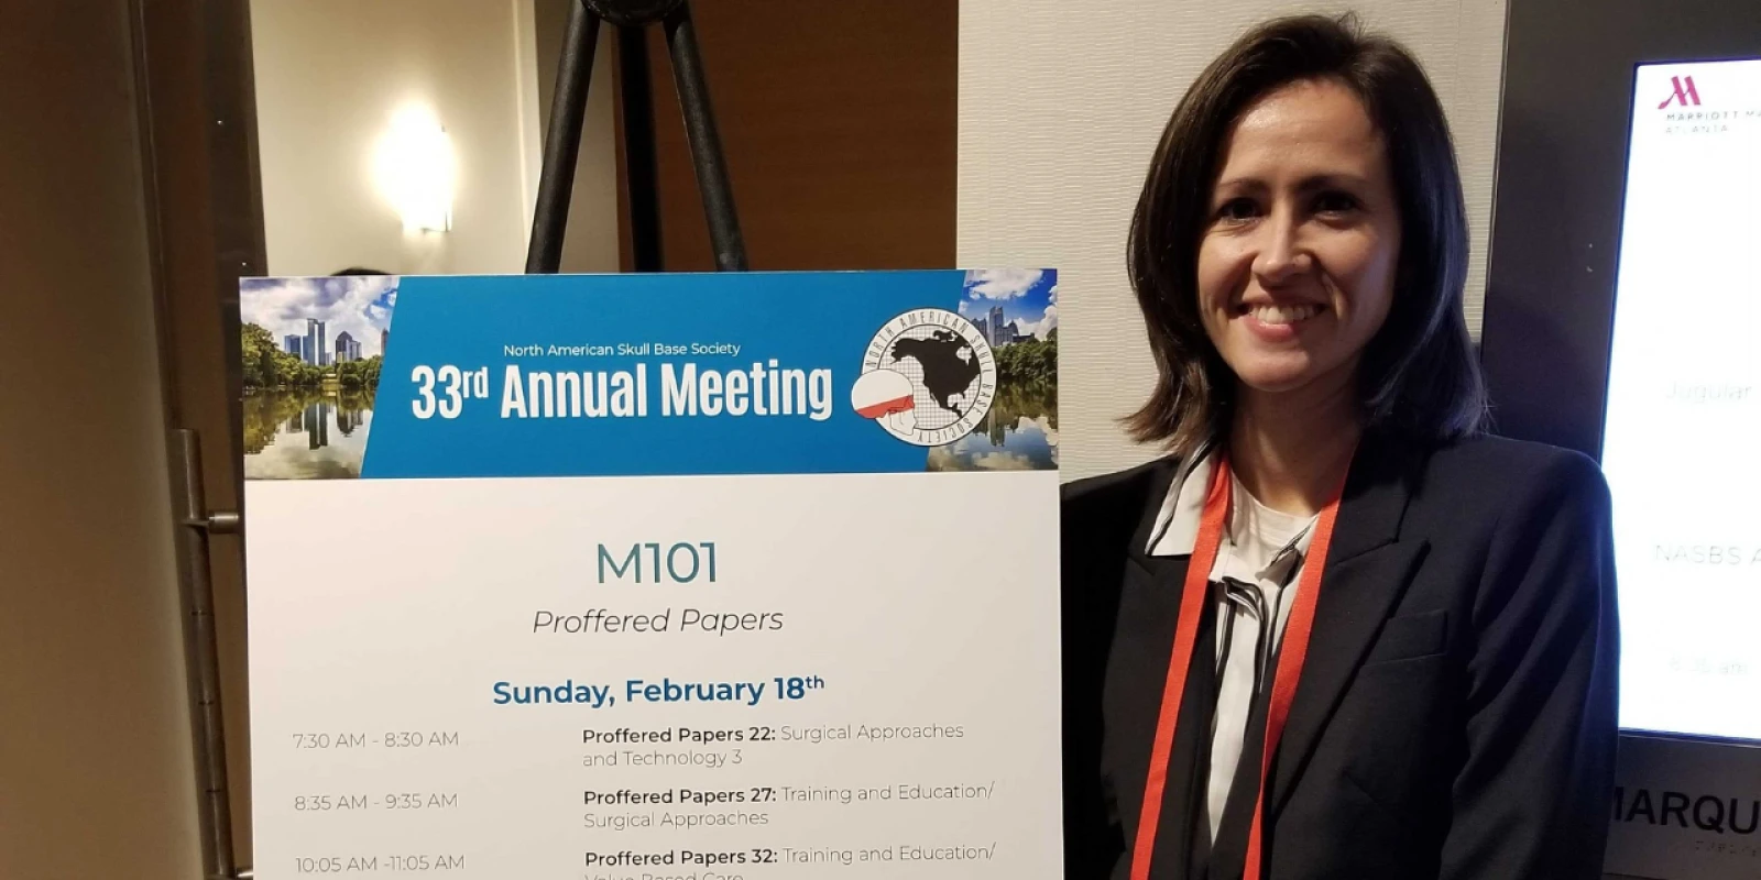
[[[1398,447],[1365,438],[1333,526],[1308,656],[1278,741],[1273,815],[1289,799],[1321,730],[1425,554],[1423,540],[1400,540],[1411,496],[1407,473]]]

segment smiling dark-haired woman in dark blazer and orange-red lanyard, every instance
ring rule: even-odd
[[[1160,371],[1131,424],[1171,454],[1064,502],[1067,875],[1595,878],[1608,489],[1479,433],[1418,63],[1351,19],[1243,37],[1129,259]]]

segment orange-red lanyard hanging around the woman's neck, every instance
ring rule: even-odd
[[[1155,829],[1162,818],[1162,792],[1168,787],[1168,755],[1175,746],[1175,725],[1180,720],[1180,699],[1187,686],[1187,669],[1197,641],[1199,614],[1210,597],[1210,572],[1222,546],[1224,523],[1229,519],[1229,459],[1217,456],[1210,489],[1205,495],[1205,514],[1199,517],[1199,535],[1192,544],[1192,561],[1180,593],[1180,621],[1175,627],[1175,651],[1168,658],[1168,683],[1162,685],[1162,713],[1155,722],[1155,743],[1150,752],[1150,776],[1143,787],[1143,811],[1138,815],[1138,840],[1131,855],[1131,880],[1150,880],[1150,857],[1155,852]],[[1296,681],[1308,656],[1308,634],[1314,630],[1315,600],[1321,597],[1321,570],[1326,567],[1328,544],[1333,540],[1333,521],[1338,517],[1338,495],[1321,509],[1303,574],[1298,581],[1296,602],[1284,625],[1284,646],[1278,649],[1278,667],[1271,674],[1271,702],[1266,708],[1266,746],[1259,759],[1259,792],[1254,797],[1254,825],[1247,836],[1245,880],[1261,876],[1261,825],[1266,810],[1266,773],[1278,748],[1278,734],[1291,715],[1296,699]],[[1277,627],[1277,621],[1266,621]],[[1245,760],[1245,755],[1243,755]]]

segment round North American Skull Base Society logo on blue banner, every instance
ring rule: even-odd
[[[944,445],[972,433],[997,396],[997,357],[967,319],[940,308],[907,312],[863,354],[851,405],[886,433]]]

